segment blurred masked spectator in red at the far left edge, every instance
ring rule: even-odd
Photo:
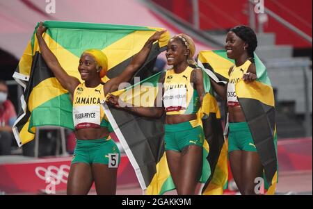
[[[10,155],[13,142],[12,126],[16,120],[13,103],[8,98],[8,86],[0,80],[0,155]]]

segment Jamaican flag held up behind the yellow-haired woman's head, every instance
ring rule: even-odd
[[[36,126],[74,128],[70,97],[40,54],[35,37],[37,26],[13,75],[24,87],[21,98],[22,111],[13,126],[19,147],[33,140]],[[104,51],[109,61],[108,73],[102,78],[104,82],[123,72],[148,38],[155,31],[162,30],[146,26],[53,21],[45,22],[44,26],[48,28],[43,37],[49,49],[67,74],[79,78],[80,81],[77,67],[81,53],[91,48]],[[154,42],[147,60],[138,70],[139,73],[143,71],[147,75],[152,74],[145,69],[152,69],[159,53],[166,49],[168,40],[169,34],[163,33],[159,42]]]

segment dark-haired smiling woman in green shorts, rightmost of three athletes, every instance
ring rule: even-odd
[[[246,83],[257,79],[253,56],[256,48],[257,36],[251,28],[248,26],[231,28],[225,43],[227,57],[235,62],[228,72],[229,81],[226,86],[222,86],[211,79],[214,90],[227,100],[230,167],[241,194],[255,194],[255,178],[262,177],[263,169],[235,91],[235,84],[241,79]]]

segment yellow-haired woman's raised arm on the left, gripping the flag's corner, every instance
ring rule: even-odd
[[[45,33],[46,30],[47,28],[43,26],[42,22],[40,22],[36,31],[36,37],[38,39],[42,57],[44,58],[49,69],[51,69],[51,71],[54,73],[54,76],[56,76],[56,79],[58,79],[58,82],[60,82],[66,90],[73,94],[75,87],[79,85],[79,79],[68,75],[61,67],[58,59],[56,56],[54,56],[54,53],[51,52],[45,40],[42,38],[42,33]]]

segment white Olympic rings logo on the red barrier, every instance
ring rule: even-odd
[[[47,169],[45,167],[36,167],[35,174],[42,180],[46,181],[46,183],[53,183],[54,185],[58,185],[61,182],[67,183],[68,173],[70,172],[70,166],[61,165],[60,168],[49,165]]]

